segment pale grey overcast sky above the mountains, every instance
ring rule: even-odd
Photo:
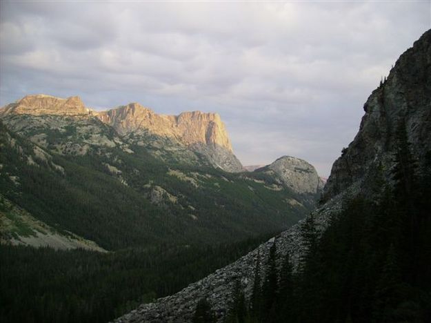
[[[328,177],[431,1],[1,0],[0,19],[0,106],[217,112],[243,165],[290,155]]]

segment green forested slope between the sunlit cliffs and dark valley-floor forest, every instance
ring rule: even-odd
[[[100,148],[70,156],[48,154],[3,125],[1,137],[2,194],[57,230],[107,250],[281,231],[317,197],[264,174],[165,164],[138,146],[135,154]]]

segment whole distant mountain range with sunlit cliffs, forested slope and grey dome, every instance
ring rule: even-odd
[[[323,188],[294,157],[246,172],[214,113],[96,111],[79,97],[28,95],[0,119],[2,242],[66,248],[79,239],[115,250],[238,241],[294,224]]]

